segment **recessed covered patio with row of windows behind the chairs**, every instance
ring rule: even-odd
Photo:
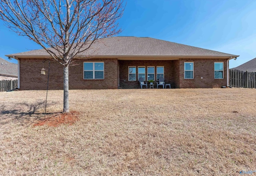
[[[143,78],[149,86],[149,80],[153,80],[154,88],[160,77],[164,78],[165,84],[171,84],[176,88],[179,79],[179,60],[119,60],[119,88],[140,88],[139,78]],[[143,86],[146,88],[146,86]],[[162,88],[162,86],[159,86]]]

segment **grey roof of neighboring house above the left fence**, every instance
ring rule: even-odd
[[[18,76],[18,64],[10,63],[0,57],[0,75]]]

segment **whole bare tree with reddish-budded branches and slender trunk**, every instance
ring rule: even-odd
[[[69,112],[68,66],[97,39],[120,33],[123,0],[0,0],[0,19],[42,46],[63,65],[64,106]]]

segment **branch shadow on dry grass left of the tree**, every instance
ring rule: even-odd
[[[53,106],[57,102],[47,102],[47,107]],[[37,120],[42,119],[45,115],[54,114],[44,113],[45,101],[36,102],[33,104],[28,103],[16,103],[11,106],[2,105],[0,107],[0,125],[7,123],[20,123],[20,125],[30,125]],[[42,109],[42,113],[36,111]],[[47,110],[47,109],[46,109]]]

